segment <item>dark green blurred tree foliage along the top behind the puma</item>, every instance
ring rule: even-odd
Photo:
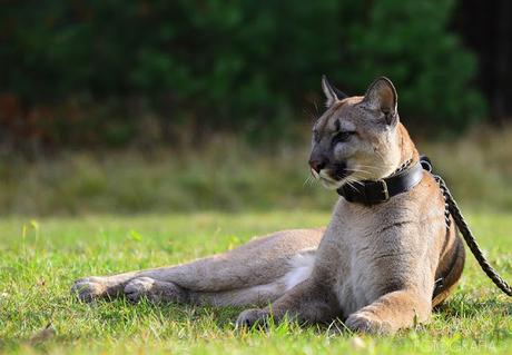
[[[407,121],[459,129],[483,101],[474,57],[447,30],[452,10],[452,0],[11,1],[0,91],[36,111],[24,122],[33,136],[67,146],[138,141],[147,116],[167,132],[157,142],[184,127],[197,140],[211,129],[283,139],[323,101],[322,73],[354,95],[386,75]]]

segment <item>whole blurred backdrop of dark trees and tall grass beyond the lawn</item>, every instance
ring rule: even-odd
[[[455,195],[512,210],[512,2],[0,1],[0,214],[329,209],[319,80],[377,76]]]

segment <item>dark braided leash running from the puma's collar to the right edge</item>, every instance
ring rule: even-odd
[[[425,170],[432,174],[432,164],[430,162],[429,158],[422,157],[421,162]],[[480,246],[476,243],[473,234],[471,233],[471,229],[467,226],[464,216],[462,216],[461,210],[457,204],[455,203],[455,199],[453,198],[452,194],[450,193],[450,189],[446,186],[446,183],[444,183],[444,180],[439,175],[432,175],[440,185],[441,191],[443,193],[444,200],[447,207],[447,213],[452,215],[453,219],[455,220],[455,225],[457,226],[459,230],[464,237],[464,240],[470,247],[471,253],[473,253],[474,257],[476,258],[476,262],[479,262],[480,267],[489,276],[489,278],[498,286],[498,288],[500,288],[503,293],[512,297],[512,287],[496,273],[496,270],[489,264],[489,262],[483,256],[483,253],[480,249]],[[450,218],[447,218],[447,226],[450,226],[449,223]]]

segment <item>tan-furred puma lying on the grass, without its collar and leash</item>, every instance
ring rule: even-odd
[[[381,179],[419,160],[391,81],[376,80],[365,96],[344,100],[326,79],[323,88],[328,108],[314,127],[311,164],[326,187]],[[339,131],[353,134],[333,144]],[[336,175],[342,162],[344,177]],[[237,324],[265,322],[272,313],[276,321],[341,318],[354,331],[391,333],[427,322],[459,280],[464,248],[453,225],[446,230],[444,199],[424,172],[420,185],[382,204],[339,198],[326,229],[279,231],[189,264],[83,278],[72,289],[85,300],[125,294],[220,306],[272,302],[243,312]]]

